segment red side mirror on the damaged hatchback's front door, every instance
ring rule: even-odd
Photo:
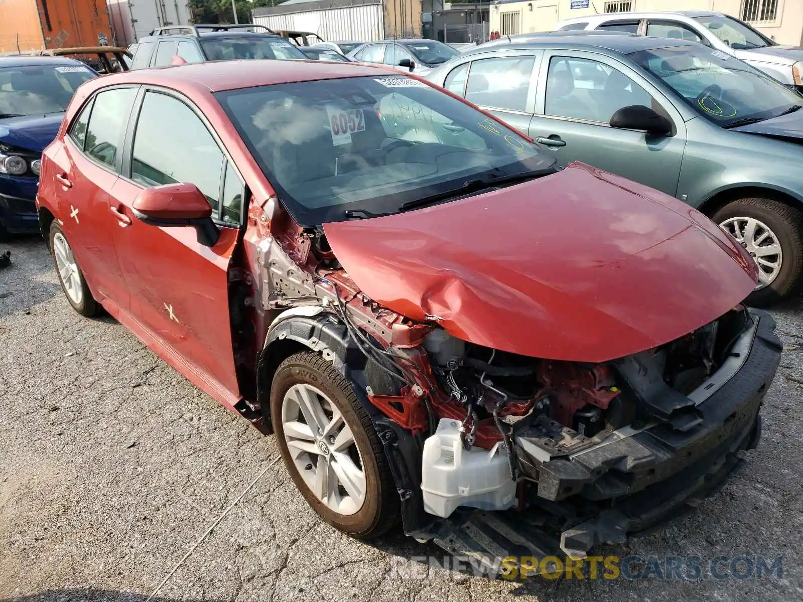
[[[198,242],[213,246],[220,232],[212,221],[212,207],[194,184],[165,184],[146,188],[132,205],[137,219],[150,226],[192,226]]]

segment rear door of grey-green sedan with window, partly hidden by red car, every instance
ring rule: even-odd
[[[455,64],[443,87],[526,134],[535,110],[535,67],[544,53],[495,54],[473,55],[471,60]]]

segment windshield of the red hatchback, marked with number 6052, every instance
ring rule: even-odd
[[[455,189],[459,196],[469,181],[543,175],[554,164],[520,134],[403,75],[216,96],[302,226],[342,221],[347,209],[395,212]]]

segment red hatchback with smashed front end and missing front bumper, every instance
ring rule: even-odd
[[[491,569],[740,466],[781,345],[727,234],[412,76],[269,63],[80,87],[38,199],[75,311],[273,429],[338,529]]]

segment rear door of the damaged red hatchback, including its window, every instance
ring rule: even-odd
[[[136,87],[116,87],[96,94],[75,118],[63,139],[47,148],[53,161],[43,198],[58,198],[59,219],[92,293],[101,303],[110,299],[128,306],[114,248],[116,218],[108,191],[119,177],[121,148]],[[45,186],[59,190],[52,194]],[[45,233],[47,235],[47,233]]]

